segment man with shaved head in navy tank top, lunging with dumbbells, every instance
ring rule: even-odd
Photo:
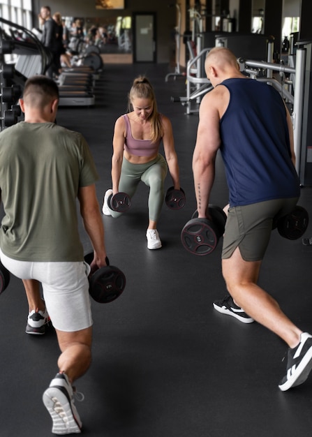
[[[198,216],[210,218],[209,196],[220,149],[229,189],[222,272],[230,295],[214,309],[244,323],[256,320],[288,344],[285,376],[278,387],[304,383],[312,369],[312,335],[302,332],[258,286],[273,220],[299,199],[292,121],[278,91],[239,71],[235,54],[214,47],[205,71],[214,89],[200,104],[193,176]]]

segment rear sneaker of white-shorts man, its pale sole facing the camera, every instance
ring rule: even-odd
[[[64,435],[81,433],[82,422],[73,398],[74,390],[66,374],[57,373],[57,376],[52,379],[49,388],[43,393],[43,403],[53,421],[53,434]]]

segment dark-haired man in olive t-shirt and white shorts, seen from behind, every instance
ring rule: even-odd
[[[57,332],[59,373],[43,394],[55,434],[79,433],[72,383],[91,362],[92,317],[77,200],[94,249],[91,267],[106,265],[104,228],[87,142],[54,124],[59,90],[48,77],[27,80],[24,121],[0,133],[0,228],[3,265],[23,280],[29,307],[43,305]],[[41,311],[43,313],[43,311]]]

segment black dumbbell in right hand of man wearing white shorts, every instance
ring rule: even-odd
[[[84,261],[91,264],[94,259],[94,253],[90,252],[84,256]],[[108,304],[117,299],[124,291],[126,286],[126,276],[118,267],[110,265],[106,258],[106,267],[96,270],[89,274],[89,294],[100,304]]]

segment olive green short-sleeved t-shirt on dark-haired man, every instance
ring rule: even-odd
[[[86,140],[54,123],[0,133],[0,247],[24,261],[80,261],[77,193],[98,175]]]

